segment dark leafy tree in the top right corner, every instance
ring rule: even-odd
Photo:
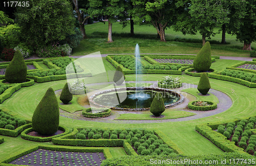
[[[251,43],[256,41],[256,1],[241,1],[240,5],[230,10],[228,33],[236,35],[244,43],[243,50],[251,50]]]

